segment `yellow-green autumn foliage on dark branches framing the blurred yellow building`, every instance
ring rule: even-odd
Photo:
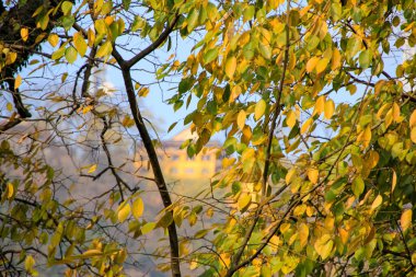
[[[19,38],[0,35],[1,68],[14,74],[13,105],[0,126],[0,268],[36,275],[46,263],[66,266],[67,276],[122,276],[137,258],[128,242],[164,230],[170,247],[152,255],[170,258],[160,269],[173,276],[180,264],[203,276],[416,274],[416,59],[392,59],[415,47],[414,1],[51,3],[32,14],[36,24],[9,28]],[[32,41],[47,47],[28,47]],[[18,73],[34,54],[43,59],[30,61],[33,71]],[[103,64],[123,76],[113,100],[91,85]],[[175,111],[197,100],[184,118],[197,134],[184,146],[189,157],[227,134],[222,170],[197,196],[172,197],[178,192],[159,164],[138,105],[152,88],[135,79],[149,64],[151,80],[177,81],[169,100]],[[68,70],[53,89],[31,91],[34,72],[58,66]],[[19,109],[24,100],[32,118]],[[14,132],[19,124],[35,127]],[[54,151],[54,141],[76,151],[79,137],[89,138],[80,148],[102,149],[104,159],[79,159],[70,172],[41,153]],[[152,219],[143,218],[151,205],[138,185],[143,176],[131,159],[114,158],[115,146],[138,140],[163,205]],[[71,197],[68,175],[109,175],[115,185],[91,197],[91,209]]]

